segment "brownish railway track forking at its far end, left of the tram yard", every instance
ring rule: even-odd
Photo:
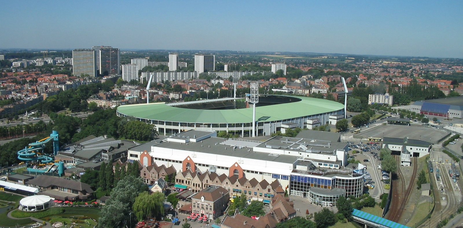
[[[413,157],[413,172],[408,183],[408,187],[405,182],[405,177],[400,170],[400,156],[395,155],[397,165],[399,166],[396,172],[397,178],[394,181],[394,187],[392,190],[393,198],[389,207],[389,213],[387,216],[388,220],[399,222],[400,216],[402,215],[405,206],[407,205],[408,197],[413,190],[413,182],[415,181],[416,172],[418,170],[418,159]],[[406,188],[407,187],[407,188]]]

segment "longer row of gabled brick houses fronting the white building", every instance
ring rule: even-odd
[[[244,194],[249,200],[259,200],[264,203],[270,203],[270,198],[275,194],[285,192],[277,179],[269,184],[266,180],[259,182],[256,178],[250,180],[246,177],[238,178],[238,175],[233,173],[228,177],[226,174],[218,175],[215,172],[199,174],[191,170],[179,171],[175,176],[175,183],[187,185],[193,192],[199,192],[211,185],[220,186],[230,192],[230,197]]]

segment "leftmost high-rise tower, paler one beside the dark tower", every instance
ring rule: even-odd
[[[96,75],[96,50],[74,49],[72,51],[72,74],[74,76]]]

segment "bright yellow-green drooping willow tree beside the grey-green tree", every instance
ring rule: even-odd
[[[146,217],[157,217],[164,214],[164,194],[155,192],[150,195],[148,192],[140,193],[133,203],[133,212],[138,221]]]

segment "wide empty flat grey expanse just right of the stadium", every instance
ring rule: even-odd
[[[441,132],[431,127],[424,127],[420,125],[402,126],[402,125],[383,125],[375,128],[366,133],[361,133],[360,136],[364,139],[368,137],[375,138],[399,138],[403,139],[418,139],[426,142],[436,143],[438,140],[444,138],[448,133]]]

